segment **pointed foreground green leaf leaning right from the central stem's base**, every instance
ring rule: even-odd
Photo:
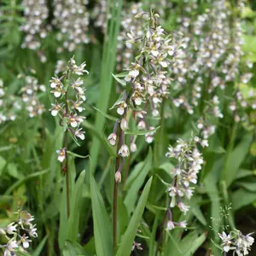
[[[117,252],[117,256],[129,256],[131,254],[132,243],[137,234],[139,223],[143,217],[144,208],[148,201],[148,194],[150,191],[151,183],[152,183],[152,177],[149,178],[148,183],[143,189],[143,194],[141,195],[137,203],[136,210],[131,217],[131,221],[129,225],[125,230],[125,235],[122,236],[121,243]]]

